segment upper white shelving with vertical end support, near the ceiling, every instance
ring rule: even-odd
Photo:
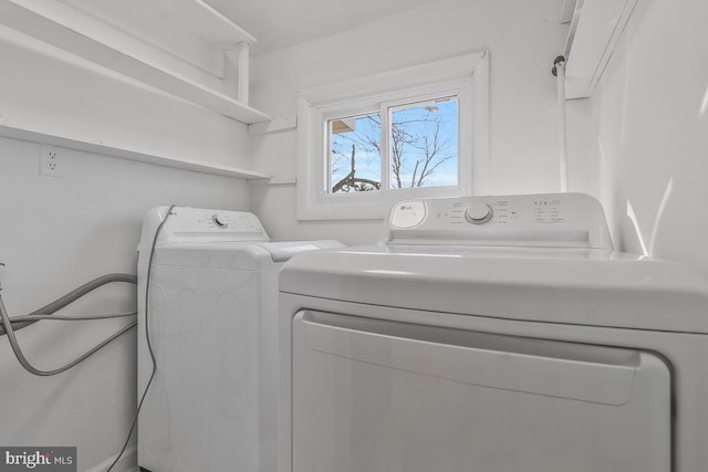
[[[201,0],[0,0],[0,23],[246,124],[270,117],[235,93],[225,51],[253,36]],[[248,91],[248,88],[246,88]]]

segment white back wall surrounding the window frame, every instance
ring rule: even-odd
[[[294,115],[299,90],[488,49],[490,191],[558,191],[558,115],[550,70],[568,32],[559,24],[560,9],[560,0],[445,0],[259,55],[252,61],[253,103],[277,117]],[[293,181],[295,149],[295,132],[258,136],[253,166],[277,181]],[[571,186],[584,190],[587,172],[577,162],[571,162]],[[275,238],[326,235],[366,243],[381,234],[381,221],[295,221],[294,185],[251,187],[251,197],[253,210]]]

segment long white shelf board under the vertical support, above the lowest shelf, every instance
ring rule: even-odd
[[[196,73],[194,67],[185,67],[178,57],[170,57],[165,51],[60,2],[0,0],[0,23],[239,122],[270,119],[267,114],[215,88],[214,84],[219,81]]]

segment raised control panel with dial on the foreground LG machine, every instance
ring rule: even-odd
[[[602,206],[584,193],[404,200],[386,243],[612,249]]]

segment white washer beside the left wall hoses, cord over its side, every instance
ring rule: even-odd
[[[271,242],[256,216],[168,207],[144,219],[138,260],[138,465],[277,470],[278,272],[335,241]],[[160,229],[145,290],[153,239]]]

